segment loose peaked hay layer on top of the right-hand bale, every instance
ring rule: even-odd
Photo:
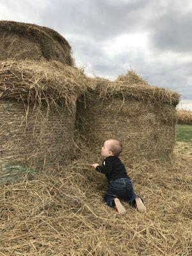
[[[124,76],[118,76],[115,81],[95,77],[88,78],[89,90],[97,92],[99,97],[134,98],[139,101],[166,103],[177,106],[180,94],[163,87],[152,86],[136,72],[129,70]]]

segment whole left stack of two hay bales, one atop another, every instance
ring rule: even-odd
[[[56,31],[0,21],[0,183],[74,157],[76,99],[85,81]]]

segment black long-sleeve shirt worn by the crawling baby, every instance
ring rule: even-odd
[[[106,157],[102,165],[97,166],[95,170],[104,173],[108,181],[129,177],[124,164],[117,156]]]

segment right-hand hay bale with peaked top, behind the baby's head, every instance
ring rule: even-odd
[[[177,93],[150,86],[132,71],[114,82],[95,78],[89,84],[77,127],[90,147],[99,152],[105,140],[117,138],[130,161],[172,157]]]

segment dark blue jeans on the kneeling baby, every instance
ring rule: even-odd
[[[115,198],[124,199],[131,206],[135,207],[135,198],[140,197],[136,195],[133,190],[131,180],[127,178],[120,178],[117,180],[111,180],[108,183],[108,189],[106,195],[104,196],[104,201],[109,207],[115,207]],[[141,198],[143,201],[143,199]]]

